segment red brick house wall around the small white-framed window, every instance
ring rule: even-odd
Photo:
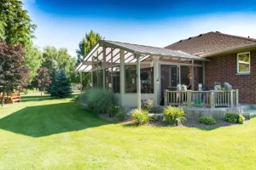
[[[209,58],[206,62],[206,86],[214,82],[229,82],[233,89],[239,89],[239,102],[256,104],[256,51],[251,51],[251,74],[236,75],[236,54],[224,54]]]

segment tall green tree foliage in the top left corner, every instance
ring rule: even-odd
[[[1,0],[0,26],[0,37],[5,42],[22,45],[31,42],[36,28],[19,0]]]

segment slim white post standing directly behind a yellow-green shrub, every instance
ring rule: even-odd
[[[141,60],[140,55],[137,54],[137,109],[141,110],[141,100],[142,100],[142,94],[141,94]]]

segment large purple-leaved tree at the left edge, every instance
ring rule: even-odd
[[[13,92],[15,88],[26,86],[29,69],[24,62],[25,53],[20,45],[8,45],[0,42],[0,86],[4,95]]]

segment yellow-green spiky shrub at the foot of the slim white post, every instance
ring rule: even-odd
[[[148,116],[148,111],[145,110],[134,110],[131,111],[131,118],[137,125],[143,125],[150,122],[150,117]]]

